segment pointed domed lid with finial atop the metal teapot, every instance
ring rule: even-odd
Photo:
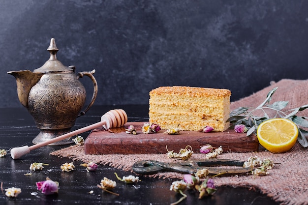
[[[57,52],[59,49],[56,46],[55,38],[50,40],[50,45],[47,48],[50,53],[50,58],[40,68],[34,70],[34,72],[48,72],[48,71],[71,71],[72,68],[66,67],[57,59]]]

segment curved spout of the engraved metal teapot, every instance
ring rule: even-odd
[[[28,108],[29,92],[44,73],[33,73],[30,70],[9,71],[7,73],[16,78],[18,99],[24,107]]]

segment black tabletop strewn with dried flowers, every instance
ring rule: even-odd
[[[82,117],[77,118],[72,130],[85,127],[98,122],[100,117],[112,109],[123,109],[128,115],[128,121],[147,121],[148,105],[125,106],[94,106]],[[31,146],[32,139],[39,133],[34,121],[26,108],[0,108],[0,149],[10,150],[13,147]],[[89,132],[80,134],[85,139]],[[67,146],[67,145],[66,145]],[[128,185],[116,179],[119,176],[128,176],[132,173],[99,165],[96,172],[88,173],[82,162],[74,162],[72,172],[62,172],[60,166],[65,162],[72,162],[68,158],[59,158],[49,155],[54,150],[66,146],[44,146],[32,150],[20,159],[12,159],[9,151],[5,157],[0,158],[0,182],[3,189],[9,187],[21,188],[16,198],[8,198],[0,193],[0,205],[86,205],[86,204],[122,204],[122,205],[169,205],[181,198],[180,194],[170,191],[170,185],[175,179],[158,179],[141,176],[141,181]],[[33,162],[48,163],[42,171],[30,171]],[[32,173],[31,176],[25,176]],[[106,176],[117,181],[115,196],[97,188],[100,180]],[[59,193],[43,195],[36,189],[35,182],[43,181],[46,177],[60,183]],[[93,191],[93,193],[89,193]],[[180,205],[275,205],[274,201],[258,190],[249,188],[217,187],[212,197],[198,199],[198,192],[187,190],[187,199]]]

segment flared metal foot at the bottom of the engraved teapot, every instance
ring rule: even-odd
[[[70,128],[68,129],[58,129],[58,130],[45,130],[45,129],[40,129],[40,133],[32,140],[33,144],[39,144],[42,142],[46,142],[48,140],[54,139],[55,137],[58,137],[60,135],[64,135],[70,131]],[[49,144],[48,146],[60,146],[60,145],[68,145],[68,144],[73,144],[74,142],[72,141],[71,138],[67,138],[64,140],[61,140],[59,142],[55,142],[52,144]]]

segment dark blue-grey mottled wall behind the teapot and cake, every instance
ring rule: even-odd
[[[21,106],[6,72],[43,65],[52,37],[64,65],[96,69],[94,105],[148,104],[175,85],[235,101],[308,78],[307,0],[0,0],[0,107]]]

